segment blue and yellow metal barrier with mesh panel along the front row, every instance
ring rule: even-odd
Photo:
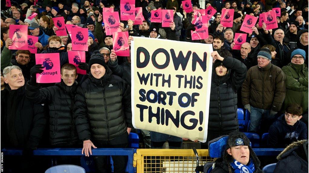
[[[278,155],[284,148],[253,148],[258,156]],[[2,149],[3,155],[22,155],[19,149]],[[213,161],[208,150],[198,149],[200,166]],[[2,154],[1,153],[1,154]],[[39,148],[33,155],[80,155],[82,148]],[[133,148],[94,148],[92,155],[127,155],[128,172],[194,172],[196,157],[191,149],[133,149]]]

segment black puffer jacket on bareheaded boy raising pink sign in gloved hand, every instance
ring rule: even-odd
[[[40,86],[26,86],[26,95],[34,103],[48,102],[49,141],[51,145],[75,145],[78,135],[74,122],[74,98],[77,82],[66,86],[63,82],[39,89]]]

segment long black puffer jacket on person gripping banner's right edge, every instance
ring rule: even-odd
[[[226,57],[222,64],[228,74],[220,77],[214,68],[217,63],[221,61],[216,60],[213,66],[208,131],[226,134],[238,129],[236,91],[245,80],[247,67],[235,58]]]

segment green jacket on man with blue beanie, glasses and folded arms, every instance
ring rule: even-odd
[[[292,103],[299,104],[303,111],[308,111],[308,67],[306,64],[289,63],[282,67],[286,74],[285,107]]]

